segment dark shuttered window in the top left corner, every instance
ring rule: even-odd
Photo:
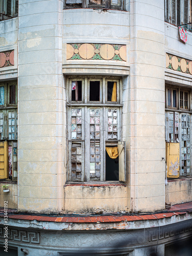
[[[18,0],[0,0],[0,20],[18,16]]]

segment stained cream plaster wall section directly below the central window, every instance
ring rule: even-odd
[[[65,212],[128,211],[125,186],[66,186]]]

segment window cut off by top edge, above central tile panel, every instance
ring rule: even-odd
[[[122,0],[66,0],[64,9],[72,8],[100,8],[123,10]]]

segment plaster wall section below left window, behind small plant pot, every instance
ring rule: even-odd
[[[3,185],[0,186],[0,207],[4,208],[4,202],[8,202],[8,208],[16,209],[17,208],[17,184],[9,184],[9,192],[3,191]]]

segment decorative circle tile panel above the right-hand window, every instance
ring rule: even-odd
[[[192,61],[166,53],[166,68],[192,75]]]

